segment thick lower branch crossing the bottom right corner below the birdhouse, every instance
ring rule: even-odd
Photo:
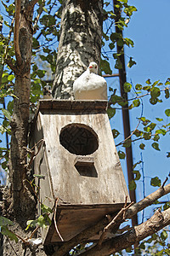
[[[122,236],[105,241],[102,247],[94,246],[85,253],[80,253],[81,256],[108,256],[111,253],[122,251],[123,249],[132,246],[134,243],[143,240],[147,236],[151,236],[156,231],[161,230],[170,224],[170,208],[161,212],[158,209],[154,215],[145,221],[143,224],[135,226],[132,230],[127,231]]]

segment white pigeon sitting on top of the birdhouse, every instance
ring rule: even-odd
[[[98,65],[90,62],[88,69],[73,84],[75,100],[107,100],[107,83],[98,75]]]

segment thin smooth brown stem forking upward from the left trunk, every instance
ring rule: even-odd
[[[14,52],[18,66],[22,64],[19,45],[19,30],[20,30],[20,0],[15,2],[15,21],[14,21]]]

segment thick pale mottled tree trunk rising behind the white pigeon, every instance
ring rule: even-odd
[[[102,0],[64,0],[52,94],[73,99],[73,83],[90,61],[100,62]]]

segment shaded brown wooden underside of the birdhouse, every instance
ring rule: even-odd
[[[67,207],[63,209],[58,207],[57,212],[57,227],[59,234],[63,237],[64,241],[69,241],[72,237],[77,236],[82,230],[87,229],[89,226],[96,224],[100,219],[104,218],[107,214],[114,214],[117,210],[123,207],[121,205],[110,205],[110,207],[91,208],[91,209],[72,209]],[[96,234],[97,235],[97,234]],[[89,237],[89,241],[98,240],[99,236]],[[57,234],[54,224],[51,226],[45,244],[61,242]]]

